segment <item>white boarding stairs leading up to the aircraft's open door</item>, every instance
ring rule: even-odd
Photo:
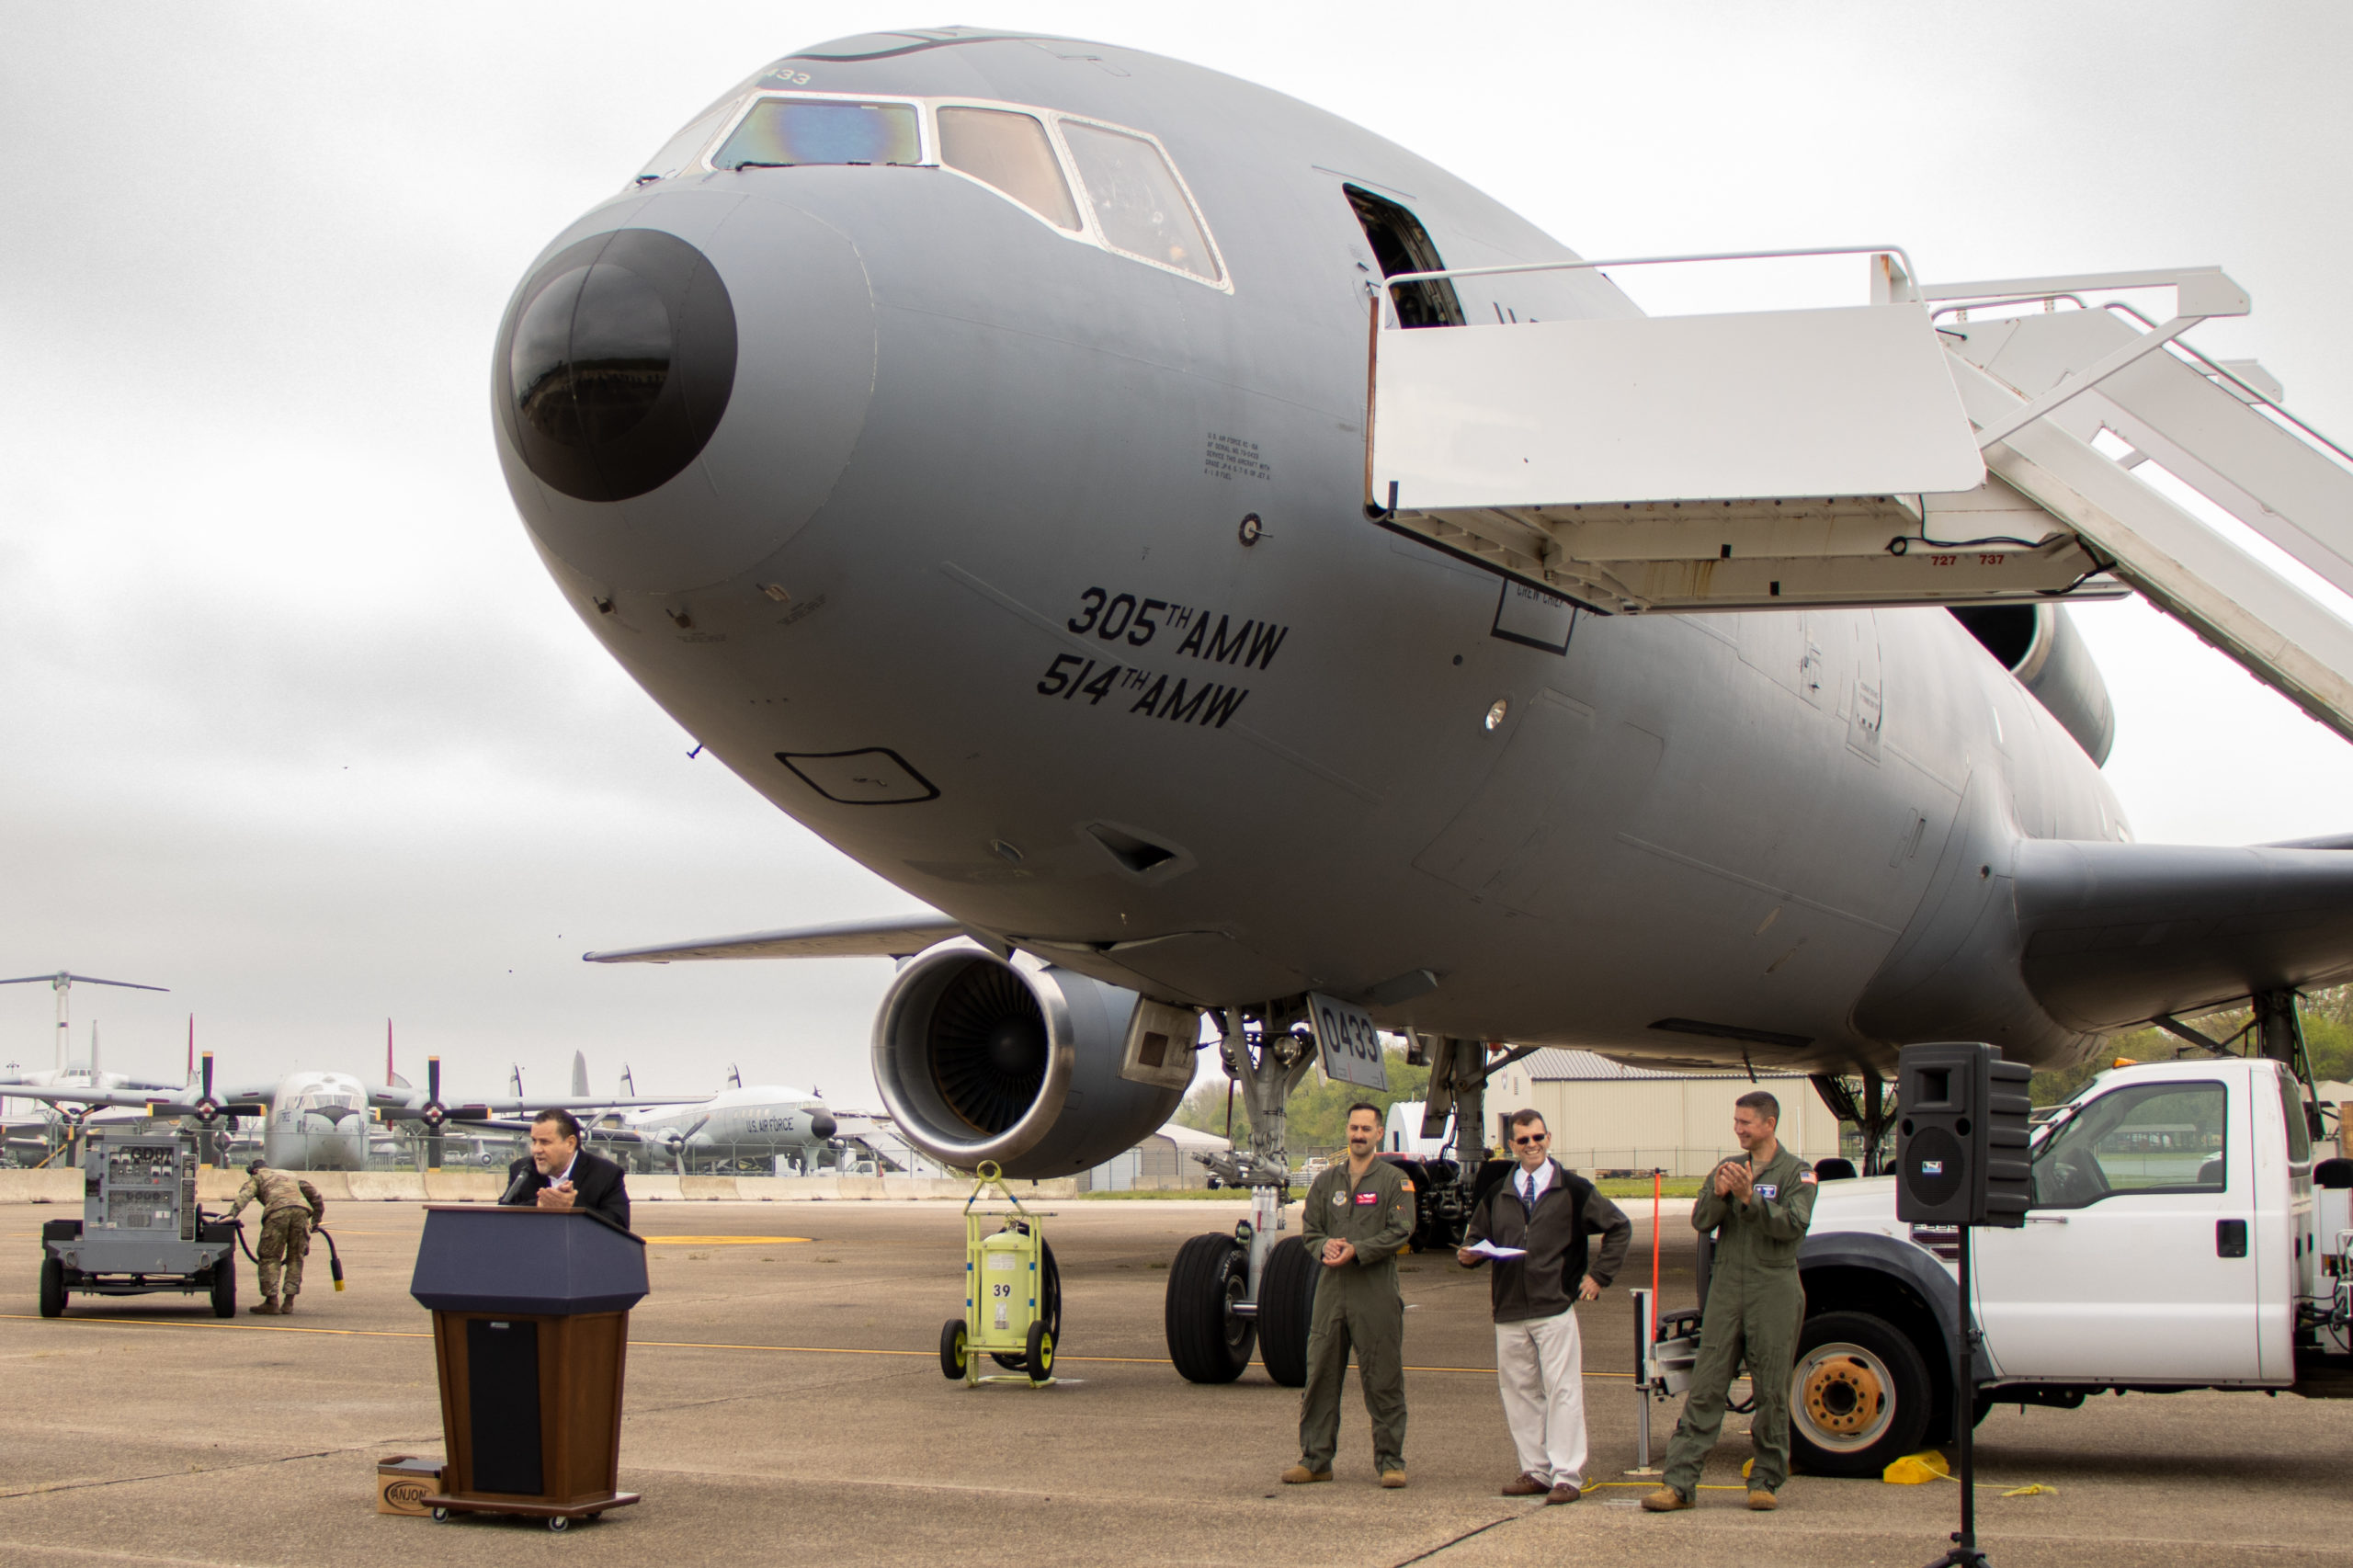
[[[2219,268],[1922,285],[1847,308],[1402,330],[1372,311],[1365,509],[1605,614],[1993,605],[2139,591],[2353,739],[2353,624],[2167,497],[2172,476],[2353,593],[2353,457],[2259,365]],[[2172,290],[2153,323],[2087,297]]]

